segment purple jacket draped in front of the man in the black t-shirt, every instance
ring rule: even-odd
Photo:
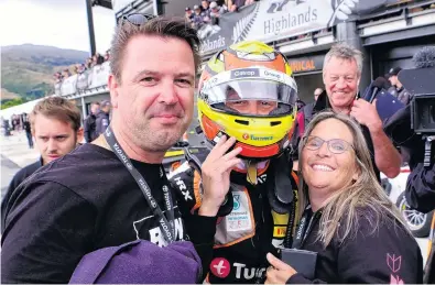
[[[187,241],[166,248],[137,240],[86,254],[70,284],[194,284],[200,282],[200,259]]]

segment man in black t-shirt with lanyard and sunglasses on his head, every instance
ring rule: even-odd
[[[3,283],[68,283],[89,252],[188,238],[162,161],[192,120],[199,40],[182,21],[132,14],[120,21],[110,51],[110,128],[17,188],[1,240]],[[163,213],[154,215],[157,208]],[[215,220],[192,221],[204,232],[193,240],[198,252],[213,243]]]

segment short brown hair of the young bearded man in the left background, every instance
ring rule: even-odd
[[[35,118],[42,114],[47,118],[59,120],[64,123],[70,123],[75,132],[80,129],[80,110],[77,106],[62,97],[48,97],[39,101],[30,114],[32,132],[34,131]]]

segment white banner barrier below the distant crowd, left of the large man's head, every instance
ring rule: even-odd
[[[54,85],[54,92],[57,96],[68,96],[88,89],[107,85],[110,74],[109,62],[96,65],[80,74],[75,74]]]

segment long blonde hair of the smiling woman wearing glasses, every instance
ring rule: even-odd
[[[330,110],[326,110],[314,117],[298,145],[298,171],[301,176],[298,218],[302,217],[305,206],[308,202],[308,189],[303,179],[302,172],[303,149],[306,138],[318,123],[327,119],[336,119],[345,123],[351,132],[354,138],[352,146],[355,150],[356,167],[359,172],[359,177],[357,180],[352,180],[352,175],[349,175],[347,185],[334,193],[324,202],[317,239],[320,240],[326,248],[335,237],[338,238],[339,242],[354,237],[358,231],[358,220],[361,218],[367,219],[371,226],[370,228],[373,229],[372,232],[379,229],[382,222],[394,222],[394,219],[406,228],[398,208],[390,201],[374,175],[370,152],[359,124],[349,116],[336,113]],[[370,212],[373,215],[369,217],[363,213],[361,215],[360,209],[362,208],[370,208]]]

